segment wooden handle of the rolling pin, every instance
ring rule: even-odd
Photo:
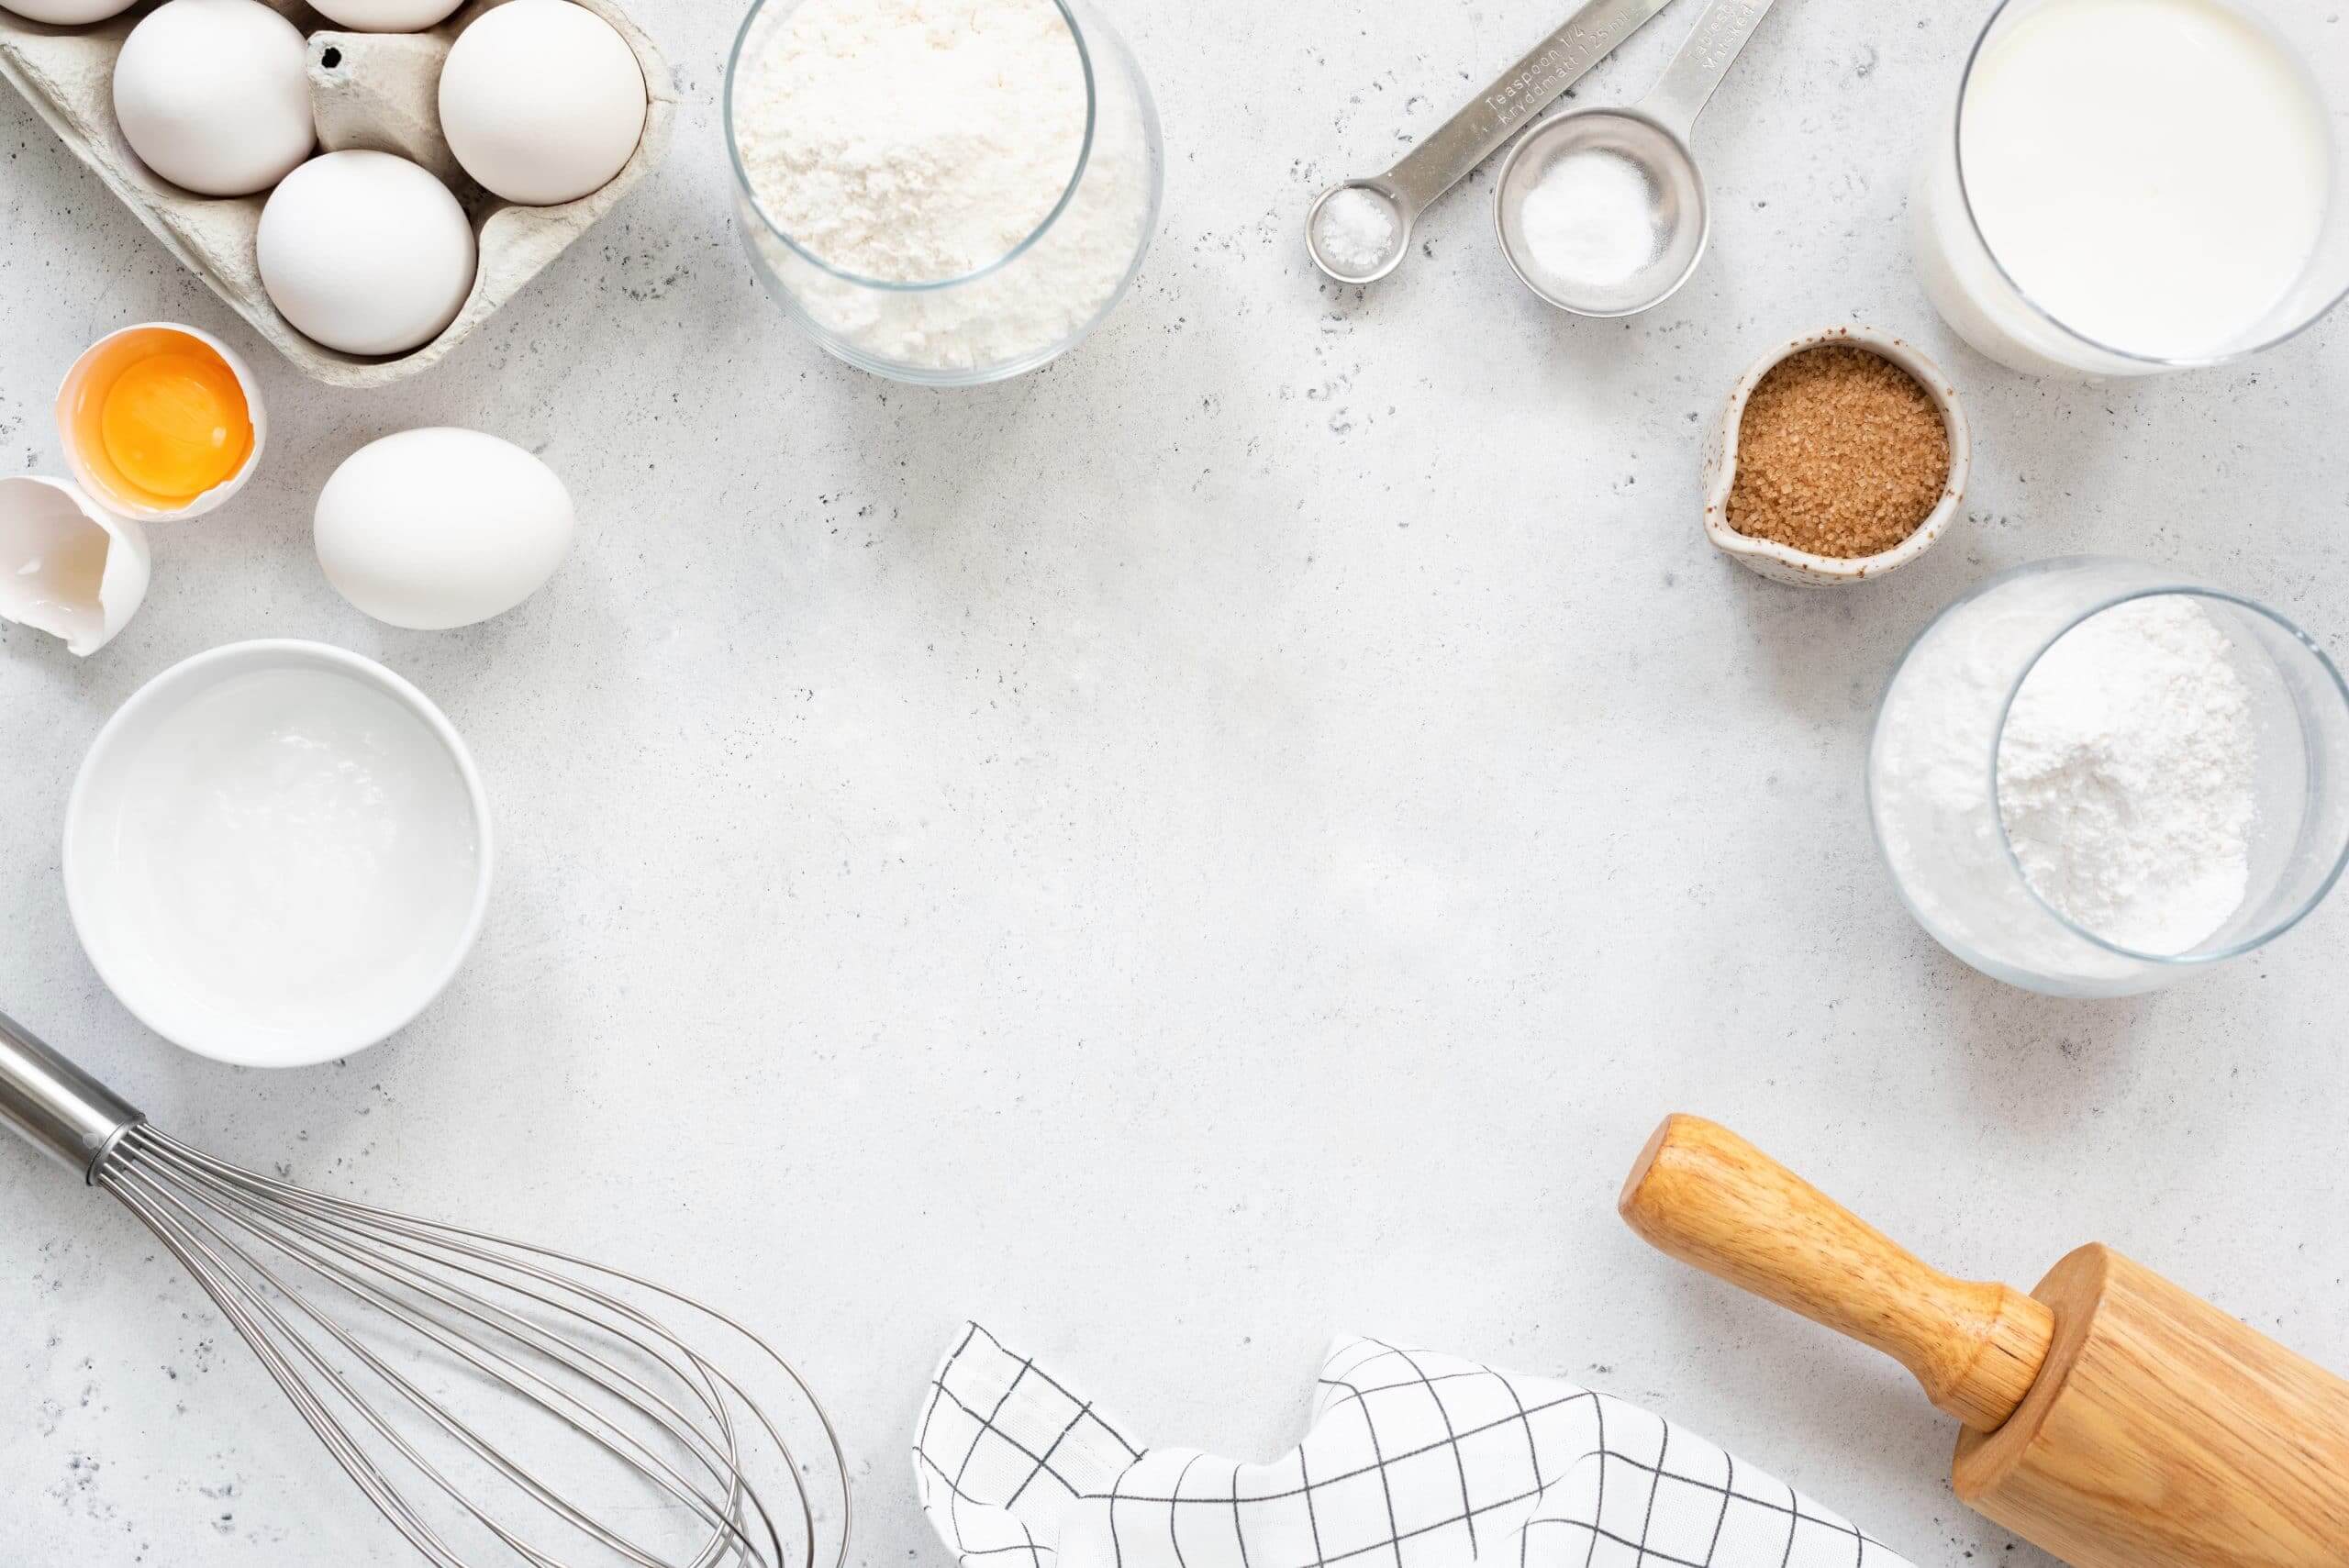
[[[1952,1279],[1727,1127],[1675,1115],[1618,1202],[1656,1249],[1893,1357],[1936,1406],[1997,1432],[2039,1380],[2055,1314]]]

